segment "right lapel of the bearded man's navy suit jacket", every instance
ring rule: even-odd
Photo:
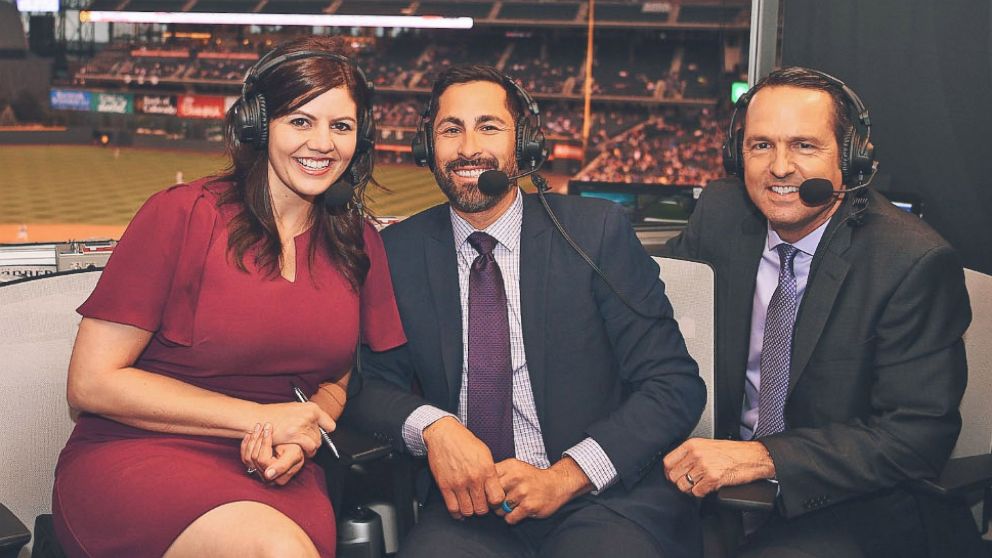
[[[524,196],[524,217],[520,230],[520,319],[524,336],[527,370],[537,418],[545,422],[545,384],[548,282],[551,257],[551,227],[540,202]]]

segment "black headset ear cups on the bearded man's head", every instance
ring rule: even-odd
[[[504,89],[512,91],[524,107],[524,113],[517,118],[515,123],[517,133],[514,140],[514,150],[517,168],[521,171],[536,169],[548,158],[544,131],[541,129],[541,111],[537,107],[537,102],[523,87],[520,87],[509,76],[504,75],[502,78]],[[413,161],[417,163],[417,166],[427,167],[431,170],[434,170],[434,122],[431,120],[434,102],[435,99],[431,96],[427,101],[427,108],[421,115],[417,134],[413,136],[413,143],[410,146],[413,150]]]

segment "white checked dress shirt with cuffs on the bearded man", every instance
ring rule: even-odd
[[[516,199],[495,223],[483,230],[498,241],[493,256],[499,264],[506,287],[507,311],[510,322],[510,359],[513,367],[513,439],[517,459],[531,465],[547,469],[551,466],[541,425],[534,404],[527,357],[524,353],[523,326],[520,304],[520,229],[523,223],[523,194],[518,190]],[[467,422],[468,403],[468,281],[472,261],[478,252],[468,243],[468,236],[475,229],[451,211],[451,226],[455,236],[455,249],[458,252],[458,286],[462,309],[462,378],[458,393],[458,416],[462,424]],[[567,389],[567,386],[561,386]],[[445,416],[454,416],[433,407],[423,405],[412,413],[403,424],[403,440],[413,455],[427,453],[423,431],[431,423]],[[592,438],[586,438],[565,451],[589,477],[596,492],[604,490],[617,480],[617,470],[603,448]]]

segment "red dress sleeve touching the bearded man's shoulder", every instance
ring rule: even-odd
[[[369,223],[365,225],[365,252],[369,256],[369,272],[361,291],[362,342],[373,351],[385,351],[406,343],[406,336],[396,308],[382,237]]]

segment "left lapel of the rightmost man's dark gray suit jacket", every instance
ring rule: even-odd
[[[756,215],[748,215],[741,221],[740,234],[731,243],[731,261],[727,270],[729,292],[727,302],[725,332],[720,343],[726,355],[723,363],[725,385],[724,401],[730,402],[728,416],[718,417],[718,424],[733,425],[731,434],[737,435],[740,424],[741,407],[744,403],[744,378],[747,371],[747,355],[751,338],[751,310],[754,303],[754,289],[757,283],[758,264],[767,239],[767,225]]]

